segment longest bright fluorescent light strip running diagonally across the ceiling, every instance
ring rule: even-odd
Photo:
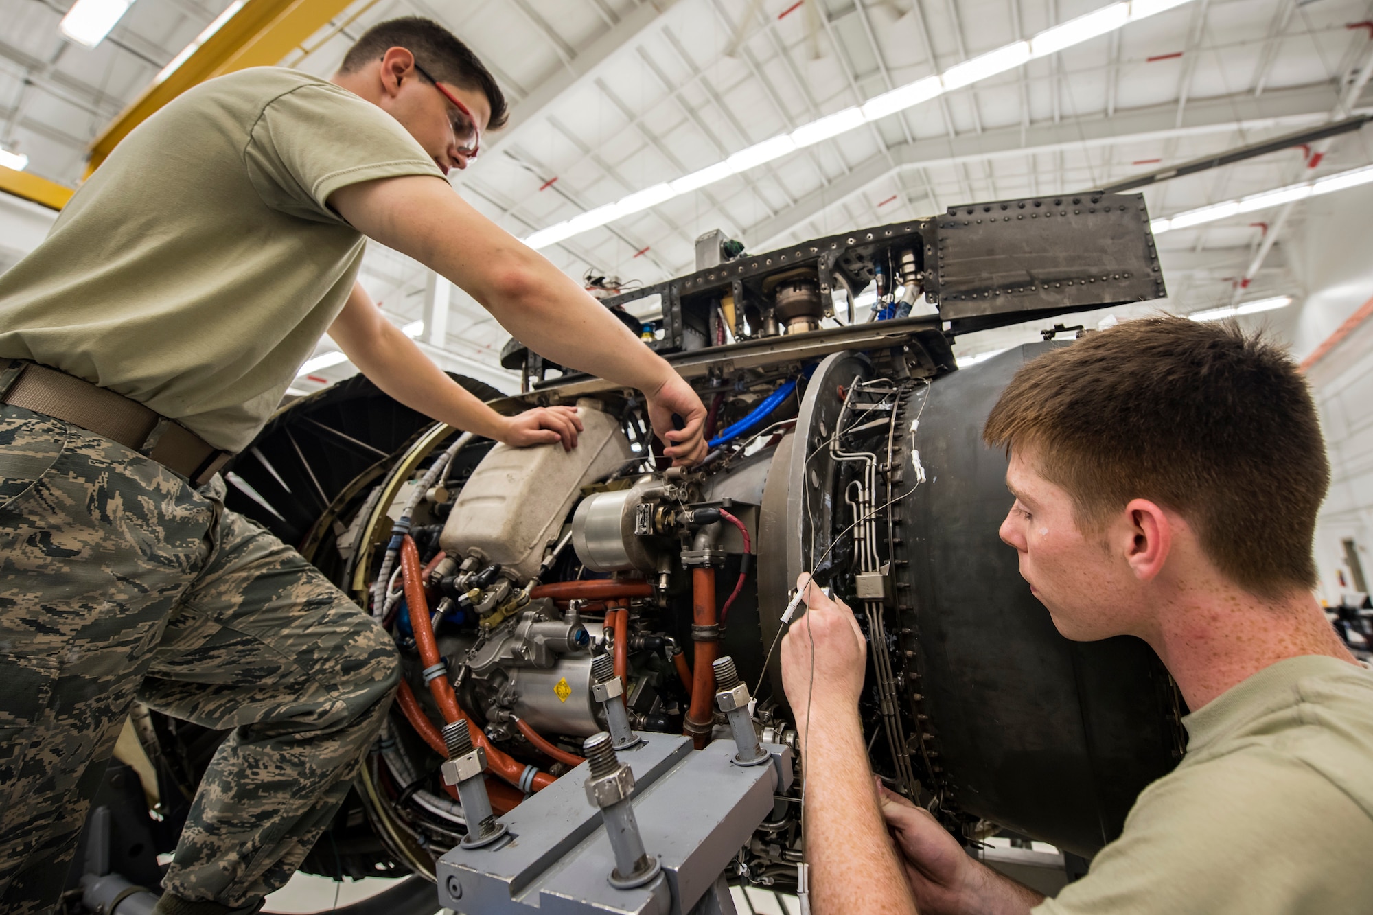
[[[979,80],[986,80],[987,77],[998,73],[1013,70],[1034,58],[1042,58],[1045,55],[1063,51],[1064,48],[1071,48],[1076,44],[1082,44],[1083,41],[1089,41],[1119,29],[1127,22],[1138,22],[1140,19],[1152,16],[1157,12],[1179,7],[1184,3],[1190,3],[1190,0],[1119,0],[1118,3],[1101,7],[1094,12],[1078,16],[1076,19],[1070,19],[1068,22],[1056,25],[1052,29],[1045,29],[1028,41],[1015,41],[989,54],[972,58],[971,60],[964,60],[962,63],[949,67],[941,76],[928,76],[916,80],[914,82],[898,85],[888,92],[883,92],[881,95],[868,99],[861,106],[843,109],[842,111],[827,114],[825,117],[817,118],[809,124],[802,124],[791,133],[781,133],[763,140],[762,143],[755,143],[754,146],[740,150],[724,162],[707,165],[703,169],[692,172],[691,174],[684,174],[682,177],[667,181],[666,184],[656,184],[644,191],[630,194],[629,196],[614,203],[607,203],[605,206],[600,206],[589,213],[575,216],[564,223],[557,223],[556,225],[538,229],[526,238],[524,243],[534,249],[556,245],[557,242],[579,235],[588,229],[612,223],[622,216],[629,216],[630,213],[638,213],[658,206],[659,203],[670,201],[674,196],[681,196],[682,194],[691,194],[692,191],[697,191],[703,187],[714,184],[715,181],[722,181],[733,174],[747,172],[748,169],[762,165],[763,162],[772,162],[773,159],[781,158],[783,155],[814,143],[820,143],[821,140],[828,140],[847,133],[849,131],[858,129],[870,121],[877,121],[879,118],[884,118],[909,107],[914,107],[923,102],[928,102],[930,99],[938,98],[951,89],[972,85]],[[1373,177],[1369,177],[1368,180],[1373,180]],[[1221,217],[1212,216],[1211,218]],[[1152,225],[1156,227],[1155,232],[1166,232],[1168,231],[1170,223],[1177,223],[1177,217],[1171,221],[1155,220]],[[1173,225],[1173,228],[1182,227]]]

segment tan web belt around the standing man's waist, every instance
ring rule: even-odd
[[[0,403],[54,416],[132,448],[196,486],[233,455],[136,400],[21,359],[0,359]]]

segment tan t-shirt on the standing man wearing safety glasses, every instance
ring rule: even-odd
[[[297,70],[189,89],[126,136],[0,276],[0,356],[110,387],[238,451],[338,316],[364,236],[325,206],[442,172],[382,109]]]

